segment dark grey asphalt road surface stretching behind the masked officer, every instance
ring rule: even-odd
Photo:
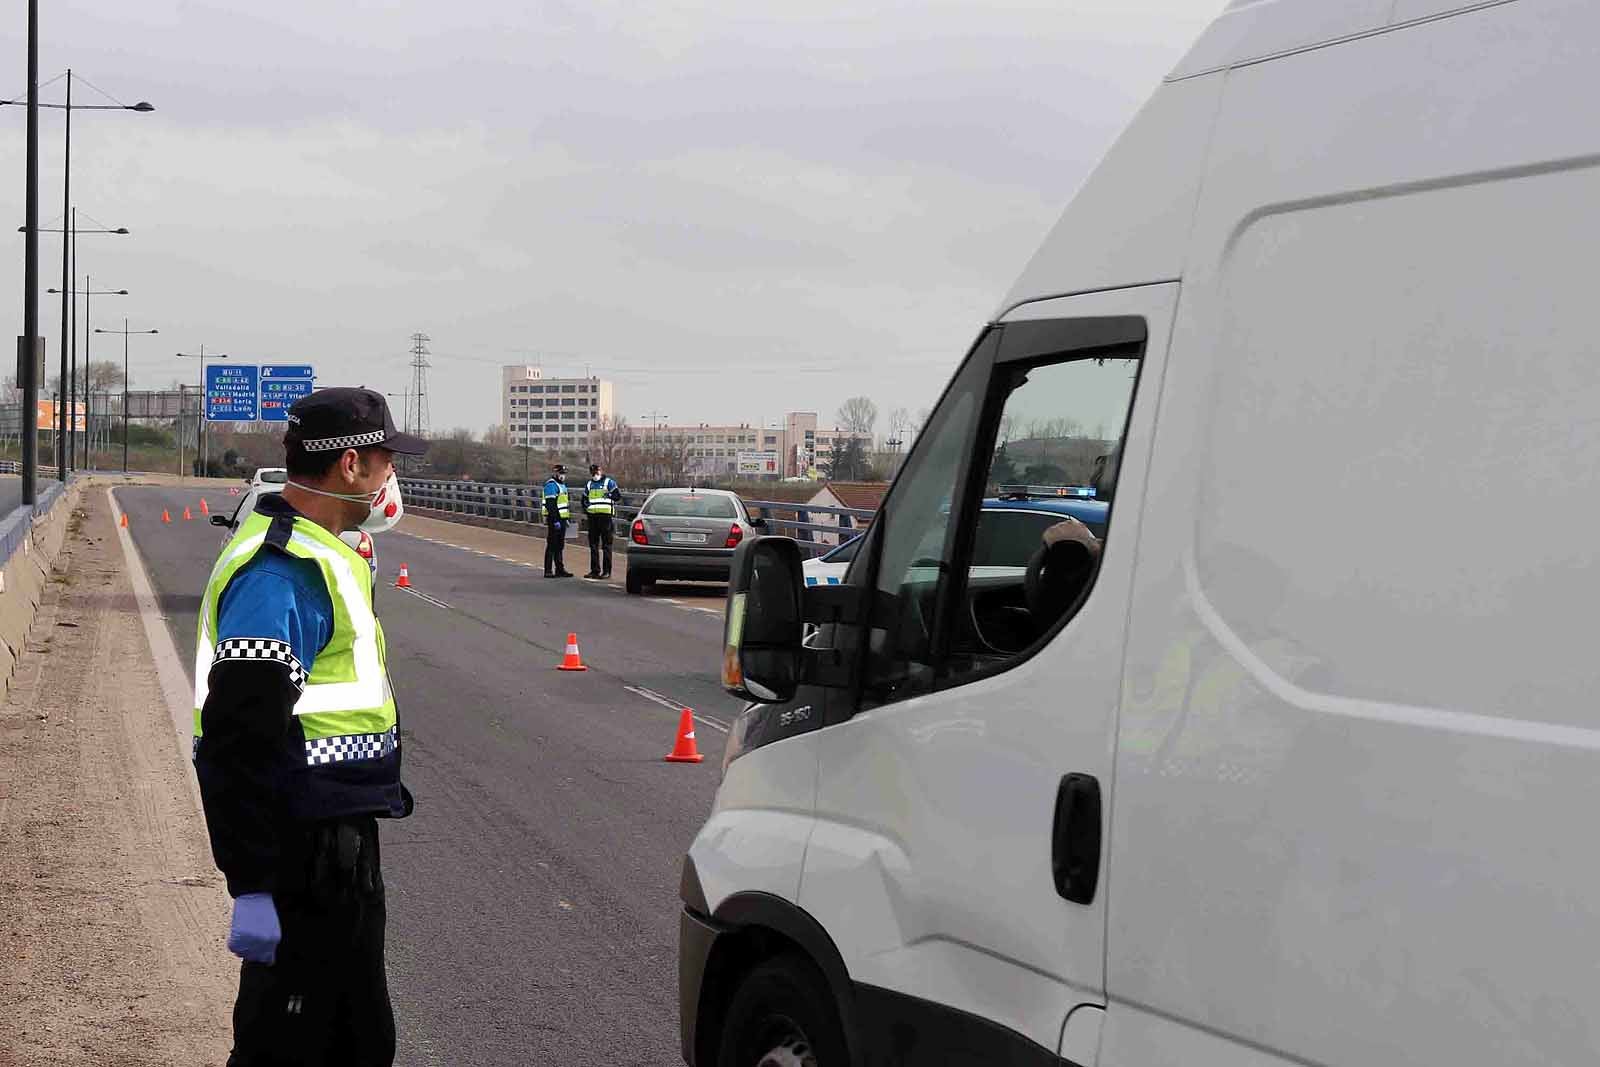
[[[115,493],[192,664],[221,531],[197,490]],[[418,798],[382,838],[398,1062],[680,1062],[678,870],[739,709],[717,685],[722,597],[547,581],[398,531],[378,552]],[[400,563],[419,595],[392,589]],[[586,673],[555,670],[570,630]],[[704,763],[662,763],[669,704],[702,717]]]

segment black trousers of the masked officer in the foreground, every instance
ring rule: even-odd
[[[390,1067],[378,821],[315,824],[290,851],[272,894],[283,941],[240,968],[227,1067]]]

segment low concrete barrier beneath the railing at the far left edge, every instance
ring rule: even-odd
[[[6,691],[56,557],[74,528],[83,486],[83,478],[51,482],[32,507],[24,504],[0,520],[0,677]]]

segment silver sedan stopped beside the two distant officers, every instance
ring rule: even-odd
[[[733,550],[765,518],[750,518],[728,490],[656,490],[629,530],[627,592],[642,593],[659,579],[725,582]]]

